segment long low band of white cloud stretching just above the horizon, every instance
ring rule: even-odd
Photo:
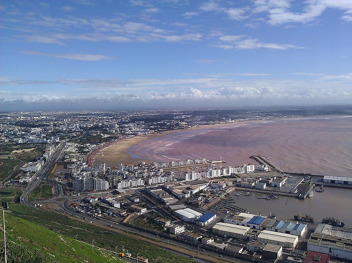
[[[216,74],[215,74],[216,75]],[[221,75],[221,74],[218,74]],[[234,73],[222,75],[261,76],[267,74]],[[119,101],[124,107],[139,107],[150,105],[165,106],[216,106],[228,102],[233,105],[250,105],[256,103],[283,103],[287,100],[310,104],[321,103],[323,100],[350,101],[352,74],[318,76],[312,81],[278,80],[278,79],[250,79],[238,81],[222,77],[202,77],[197,79],[66,79],[54,81],[17,80],[12,77],[0,77],[2,85],[31,84],[30,91],[6,92],[0,91],[0,107],[17,107],[22,109],[24,104],[46,105],[53,109],[54,105],[70,107],[87,105],[99,107],[116,107],[113,102]],[[35,85],[46,85],[45,91],[36,91]],[[69,85],[70,93],[62,95],[60,89],[50,89],[49,84]],[[34,86],[33,86],[34,85]],[[19,89],[16,89],[19,90]],[[109,99],[106,99],[109,98]],[[270,100],[268,99],[270,98]],[[275,98],[274,100],[272,98]],[[243,100],[244,99],[244,100]],[[166,100],[166,101],[165,101]],[[149,105],[149,106],[148,106]],[[232,105],[232,104],[231,104]],[[42,108],[43,109],[43,108]],[[30,109],[27,109],[30,110]]]

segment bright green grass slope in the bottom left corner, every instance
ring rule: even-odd
[[[63,236],[61,233],[50,231],[42,226],[27,220],[5,215],[7,234],[8,262],[116,262],[119,258],[109,252],[96,249],[92,246],[75,241],[73,238]],[[22,245],[20,245],[22,244]],[[29,251],[44,255],[36,261],[20,261],[18,250],[27,255]],[[46,259],[50,259],[46,261]],[[28,260],[28,259],[27,259]]]

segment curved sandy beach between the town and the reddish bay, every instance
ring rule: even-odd
[[[153,162],[154,160],[148,159],[148,158],[143,158],[136,156],[130,152],[130,148],[135,146],[138,143],[145,142],[150,139],[155,139],[155,138],[161,138],[164,136],[167,136],[169,134],[174,134],[178,132],[184,132],[184,131],[190,131],[190,130],[201,130],[201,129],[208,129],[216,126],[225,126],[225,125],[232,125],[232,124],[246,124],[246,123],[256,123],[256,122],[270,122],[270,121],[275,121],[275,120],[283,120],[283,119],[308,119],[308,118],[316,118],[316,117],[335,117],[335,116],[340,116],[340,115],[315,115],[315,116],[309,116],[309,117],[292,117],[292,118],[277,118],[277,119],[263,119],[263,120],[248,120],[248,121],[239,121],[239,122],[233,122],[233,123],[221,123],[221,124],[213,124],[213,125],[203,125],[199,127],[192,127],[189,129],[180,129],[180,130],[173,130],[173,131],[165,131],[165,132],[160,132],[160,133],[152,133],[152,134],[146,134],[146,135],[139,135],[135,136],[132,138],[124,138],[122,140],[119,140],[118,142],[115,142],[112,145],[109,145],[105,148],[102,148],[99,150],[99,152],[96,153],[94,157],[92,157],[93,162],[92,165],[96,165],[98,162],[99,163],[108,163],[107,167],[116,167],[118,163],[123,163],[127,165],[134,165],[138,164],[139,162]],[[113,148],[111,146],[114,146]],[[102,152],[102,158],[99,156],[100,153]],[[250,156],[251,154],[249,154]],[[114,165],[111,165],[114,163]]]

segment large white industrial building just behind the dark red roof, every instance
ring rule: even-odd
[[[308,250],[329,254],[333,257],[352,260],[352,240],[312,233],[308,240]]]

